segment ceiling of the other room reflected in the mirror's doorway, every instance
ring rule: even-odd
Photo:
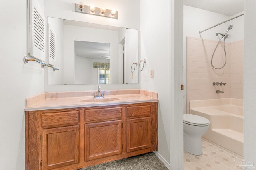
[[[75,41],[75,54],[88,59],[109,59],[110,44]]]

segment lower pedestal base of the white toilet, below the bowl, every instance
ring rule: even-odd
[[[201,155],[202,151],[202,141],[200,137],[188,137],[183,135],[184,139],[184,150],[193,155]]]

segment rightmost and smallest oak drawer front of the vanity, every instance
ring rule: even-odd
[[[126,117],[144,117],[151,115],[150,105],[126,107]]]

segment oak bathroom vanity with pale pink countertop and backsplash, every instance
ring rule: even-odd
[[[158,150],[157,93],[110,90],[103,102],[91,95],[26,100],[26,170],[76,170]]]

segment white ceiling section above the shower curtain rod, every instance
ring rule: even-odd
[[[244,0],[184,0],[184,5],[226,16],[244,11]]]

